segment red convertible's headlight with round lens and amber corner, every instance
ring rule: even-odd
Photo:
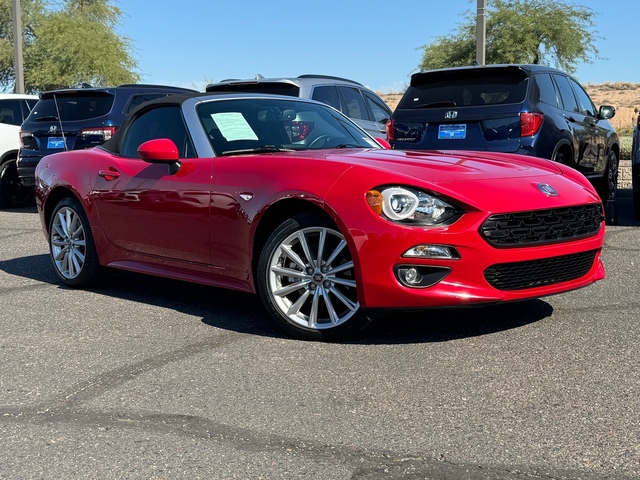
[[[423,190],[387,186],[367,192],[367,202],[378,215],[393,222],[437,225],[458,215],[453,205]]]

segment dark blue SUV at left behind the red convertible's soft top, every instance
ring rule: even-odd
[[[22,124],[17,172],[24,186],[34,185],[42,157],[79,150],[109,140],[125,116],[143,102],[196,90],[162,85],[120,85],[45,92]]]

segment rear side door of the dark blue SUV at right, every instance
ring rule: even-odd
[[[598,159],[597,147],[594,145],[596,118],[591,112],[582,111],[569,78],[564,75],[553,75],[553,78],[562,99],[567,128],[574,139],[575,167],[584,174],[592,173]]]

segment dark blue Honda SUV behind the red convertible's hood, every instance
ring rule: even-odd
[[[582,172],[614,200],[620,146],[611,106],[542,65],[489,65],[415,73],[387,123],[403,150],[487,150],[549,158]],[[611,202],[613,204],[613,202]]]

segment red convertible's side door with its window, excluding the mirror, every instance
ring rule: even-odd
[[[92,175],[106,237],[149,261],[210,264],[212,159],[196,157],[180,108],[146,110],[123,133],[119,153],[101,156]],[[156,138],[178,147],[177,171],[138,158],[138,147]]]

